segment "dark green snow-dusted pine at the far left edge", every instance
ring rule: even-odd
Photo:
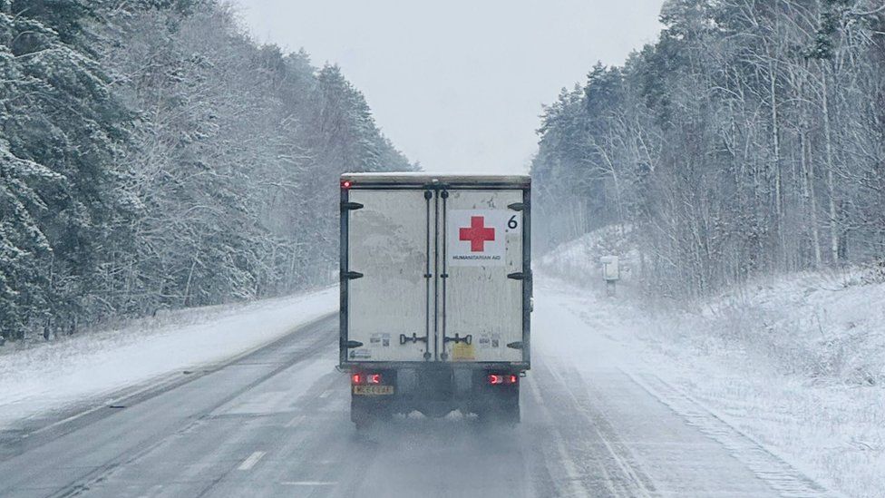
[[[56,318],[53,327],[71,327],[100,285],[102,249],[118,242],[126,212],[118,188],[125,171],[116,170],[115,160],[128,114],[100,65],[65,41],[75,34],[62,36],[37,19],[51,5],[29,6],[19,15],[0,14],[4,247],[7,254],[22,251],[13,258],[17,269],[3,270],[5,294],[16,297],[7,307],[17,309],[5,323],[18,336],[49,316]],[[62,8],[50,19],[75,29],[78,12]]]

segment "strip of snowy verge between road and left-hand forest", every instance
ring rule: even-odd
[[[119,330],[0,348],[0,429],[84,399],[260,347],[336,310],[337,288],[197,308]]]

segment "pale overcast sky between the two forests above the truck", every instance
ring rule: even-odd
[[[259,42],[338,63],[427,171],[526,171],[542,103],[653,42],[663,0],[235,0]]]

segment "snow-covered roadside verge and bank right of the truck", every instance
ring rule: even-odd
[[[540,267],[564,261],[565,271],[599,279],[591,239],[554,252]],[[556,301],[583,324],[563,331],[573,346],[562,354],[593,358],[612,354],[595,352],[600,344],[619,345],[614,349],[629,352],[624,365],[653,369],[818,483],[850,496],[885,495],[885,278],[879,272],[770,277],[668,306],[631,294],[627,285],[620,297],[606,298],[598,287],[543,275],[536,284],[536,299]]]

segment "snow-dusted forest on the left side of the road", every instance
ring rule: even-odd
[[[216,0],[0,0],[0,336],[325,284],[337,176],[413,170]]]

